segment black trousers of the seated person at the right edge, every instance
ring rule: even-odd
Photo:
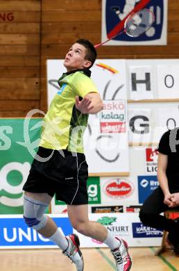
[[[170,192],[179,192],[179,188],[178,190],[171,190]],[[162,189],[158,187],[144,202],[139,212],[139,218],[142,223],[147,226],[169,232],[175,231],[179,236],[179,223],[160,215],[160,213],[170,209],[171,208],[169,208],[167,204],[164,204],[164,193],[162,192]],[[179,206],[172,209],[179,211]]]

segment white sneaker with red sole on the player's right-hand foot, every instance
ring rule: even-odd
[[[116,261],[117,271],[128,271],[132,265],[131,258],[128,254],[128,244],[122,239],[117,238],[117,240],[121,242],[120,247],[111,251],[114,260]]]

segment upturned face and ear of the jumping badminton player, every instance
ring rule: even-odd
[[[65,61],[63,63],[67,72],[73,69],[84,69],[85,67],[89,67],[91,62],[86,60],[85,56],[86,48],[78,43],[73,44],[65,56]]]

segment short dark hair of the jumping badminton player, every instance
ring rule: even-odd
[[[89,42],[89,40],[85,40],[85,39],[79,39],[79,40],[76,40],[76,43],[83,45],[87,49],[86,58],[87,60],[91,61],[93,65],[97,57],[97,52],[92,42]],[[89,66],[89,68],[92,67],[92,65]]]

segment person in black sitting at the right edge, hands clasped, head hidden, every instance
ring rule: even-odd
[[[157,179],[160,186],[146,199],[139,217],[147,226],[168,231],[168,241],[179,256],[179,221],[161,215],[171,208],[179,211],[179,128],[163,134],[158,151]]]

